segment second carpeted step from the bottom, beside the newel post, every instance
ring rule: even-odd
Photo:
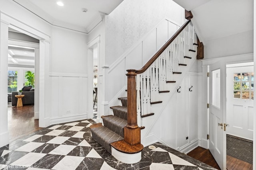
[[[124,137],[124,127],[127,125],[127,120],[119,117],[108,115],[102,117],[104,126],[115,132],[116,134]]]

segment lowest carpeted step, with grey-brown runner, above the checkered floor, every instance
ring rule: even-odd
[[[124,138],[105,126],[91,128],[92,137],[111,153],[110,143],[121,141]]]

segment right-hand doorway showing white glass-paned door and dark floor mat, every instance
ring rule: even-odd
[[[252,169],[254,63],[226,64],[226,167]]]

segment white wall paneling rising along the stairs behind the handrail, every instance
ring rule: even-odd
[[[140,69],[174,35],[179,27],[169,19],[160,21],[110,65],[108,70],[108,101],[118,100],[114,97],[127,84],[126,70]]]

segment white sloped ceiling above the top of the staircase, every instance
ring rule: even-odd
[[[174,0],[192,12],[200,41],[253,30],[253,0]],[[193,3],[192,3],[193,2]]]

